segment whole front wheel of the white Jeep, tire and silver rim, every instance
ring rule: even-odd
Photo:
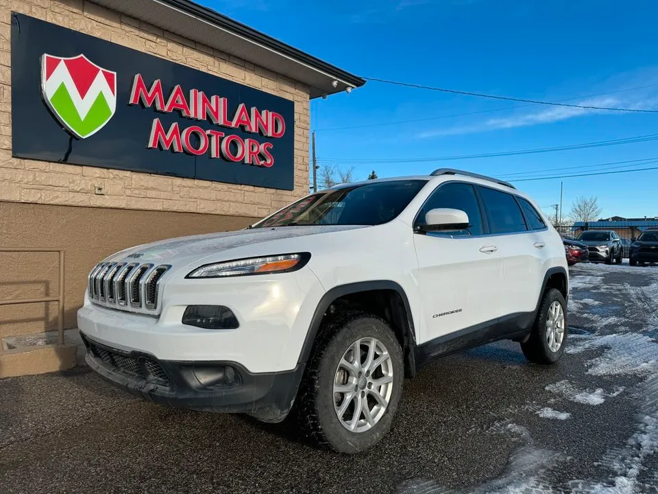
[[[321,330],[297,414],[320,445],[358,453],[391,428],[402,379],[402,349],[389,325],[369,314],[346,314]]]

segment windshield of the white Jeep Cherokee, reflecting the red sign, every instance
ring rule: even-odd
[[[397,217],[426,180],[391,180],[329,189],[265,218],[254,228],[301,225],[378,225]]]

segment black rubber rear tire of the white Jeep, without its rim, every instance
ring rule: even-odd
[[[564,333],[562,343],[559,350],[556,352],[551,351],[548,347],[548,333],[546,328],[548,308],[555,301],[560,303],[564,314]],[[560,357],[564,353],[567,333],[567,305],[564,301],[564,297],[555,288],[549,288],[546,290],[546,293],[544,293],[544,298],[541,299],[541,303],[539,304],[539,311],[537,311],[530,338],[521,344],[521,350],[526,358],[535,364],[555,364],[555,362],[560,360]]]

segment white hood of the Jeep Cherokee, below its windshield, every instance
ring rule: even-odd
[[[354,230],[356,228],[365,228],[365,226],[282,226],[192,235],[121,250],[121,252],[104,259],[104,261],[171,264],[174,267],[182,267],[209,256],[217,257],[217,260],[225,260],[221,255],[223,252],[226,252],[227,255],[230,254],[231,259],[252,255],[286,254],[295,252],[294,243],[285,242],[286,239]],[[264,244],[269,242],[276,243],[276,248],[283,249],[285,252],[265,252],[269,246]],[[263,252],[254,253],[254,246],[258,247],[261,244],[263,244]],[[230,250],[236,250],[236,252],[228,252]]]

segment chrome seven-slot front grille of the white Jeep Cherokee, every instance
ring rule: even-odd
[[[168,264],[100,263],[89,273],[89,298],[106,307],[153,311],[158,307],[160,279],[169,268]]]

